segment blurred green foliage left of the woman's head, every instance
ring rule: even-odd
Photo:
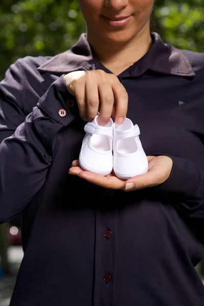
[[[52,56],[68,49],[86,31],[77,1],[2,0],[0,79],[16,59]]]

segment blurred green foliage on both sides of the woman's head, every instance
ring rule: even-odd
[[[85,31],[77,0],[1,0],[0,79],[16,59],[61,53]],[[204,0],[156,0],[151,31],[176,47],[204,52]]]

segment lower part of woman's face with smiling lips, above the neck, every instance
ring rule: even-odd
[[[144,29],[149,31],[155,0],[78,1],[86,21],[88,37],[99,37],[118,44],[131,41]],[[129,18],[117,21],[122,17]]]

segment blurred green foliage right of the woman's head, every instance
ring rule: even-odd
[[[204,0],[156,0],[155,4],[158,32],[166,42],[204,52]]]

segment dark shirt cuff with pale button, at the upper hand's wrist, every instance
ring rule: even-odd
[[[42,113],[52,117],[64,126],[73,121],[77,115],[77,102],[66,88],[64,75],[50,85],[37,103],[37,107]]]

